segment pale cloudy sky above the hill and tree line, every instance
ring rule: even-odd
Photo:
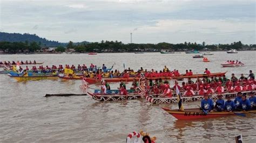
[[[0,0],[0,31],[59,42],[255,44],[256,1]]]

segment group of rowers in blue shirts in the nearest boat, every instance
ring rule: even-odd
[[[231,100],[231,97],[227,95],[227,101],[224,101],[222,95],[218,95],[218,100],[213,104],[213,100],[204,95],[204,99],[201,101],[201,109],[213,112],[213,111],[228,111],[233,112],[234,110],[238,111],[249,111],[256,109],[256,97],[254,92],[250,92],[250,98],[246,99],[246,95],[238,92],[237,97],[234,101]]]

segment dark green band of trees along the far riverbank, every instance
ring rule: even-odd
[[[89,42],[83,44],[73,44],[70,41],[65,47],[48,47],[41,42],[0,42],[0,54],[58,54],[66,52],[68,54],[79,53],[134,53],[134,52],[186,52],[186,51],[228,51],[237,49],[238,51],[255,51],[256,45],[242,44],[241,41],[231,44],[206,45],[205,42],[197,44],[196,42],[184,42],[181,44],[170,44],[160,42],[158,44],[123,44],[121,41]]]

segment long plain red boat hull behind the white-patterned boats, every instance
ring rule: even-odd
[[[196,75],[191,75],[191,76],[172,76],[172,77],[146,77],[148,80],[156,80],[156,79],[159,79],[159,78],[173,78],[173,79],[177,79],[177,78],[201,78],[201,77],[204,77],[204,76],[207,76],[207,77],[212,77],[212,76],[223,76],[227,73],[224,72],[224,73],[212,73],[212,74],[209,74],[209,75],[206,75],[206,74],[196,74]],[[139,80],[139,77],[129,77],[129,78],[123,78],[123,77],[115,77],[115,78],[102,78],[103,80],[107,81],[107,82],[120,82],[121,80],[123,80],[124,82],[131,82],[133,81],[133,79],[135,79],[136,81]],[[85,79],[86,82],[92,84],[92,83],[96,83],[96,82],[100,82],[101,80],[99,79],[96,79],[96,78],[86,78]]]

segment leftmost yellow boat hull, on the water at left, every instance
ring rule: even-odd
[[[58,76],[57,75],[42,75],[42,76],[12,76],[8,75],[12,78],[15,78],[17,81],[37,81],[37,80],[57,80]]]

